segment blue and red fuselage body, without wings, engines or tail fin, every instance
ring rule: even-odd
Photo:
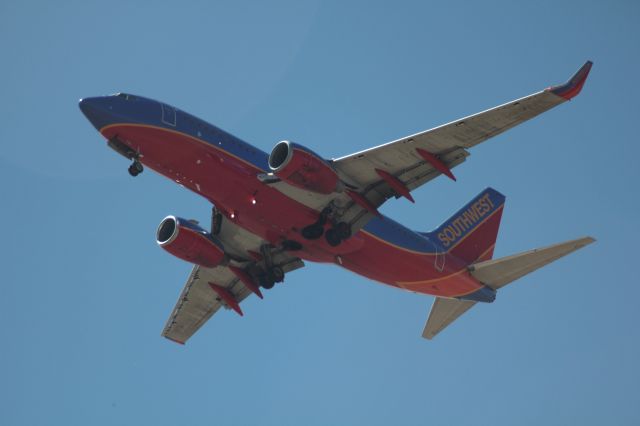
[[[275,246],[300,241],[295,255],[302,259],[436,296],[465,297],[484,287],[468,273],[469,261],[385,216],[337,247],[323,238],[304,240],[300,230],[319,212],[258,179],[269,172],[268,154],[184,111],[125,94],[85,98],[80,107],[105,138],[117,138],[144,166],[205,197],[227,220]]]

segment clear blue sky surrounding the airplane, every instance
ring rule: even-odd
[[[640,423],[640,7],[612,2],[0,3],[0,423]],[[265,151],[338,157],[564,82],[582,94],[383,211],[429,230],[486,186],[496,256],[598,242],[433,341],[432,299],[310,264],[245,317],[160,337],[190,266],[156,247],[209,206],[132,179],[81,115],[127,91]],[[221,182],[220,184],[224,184]]]

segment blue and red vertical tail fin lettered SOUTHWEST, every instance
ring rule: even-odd
[[[505,196],[487,188],[426,235],[443,251],[468,263],[488,260],[498,237]]]

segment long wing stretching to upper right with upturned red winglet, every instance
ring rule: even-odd
[[[588,61],[565,84],[550,87],[478,114],[407,136],[333,161],[360,195],[379,206],[440,174],[455,179],[451,169],[465,161],[469,148],[517,126],[576,96],[589,74]],[[411,199],[410,195],[407,197]]]

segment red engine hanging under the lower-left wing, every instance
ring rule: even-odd
[[[156,241],[172,255],[205,268],[218,266],[225,257],[224,247],[211,234],[176,216],[160,222]]]

